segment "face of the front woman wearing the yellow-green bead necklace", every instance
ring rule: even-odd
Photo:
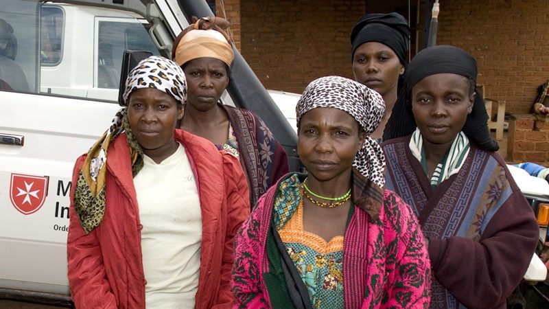
[[[366,135],[348,113],[314,108],[299,122],[297,152],[309,176],[318,181],[344,179],[351,174],[355,155]]]

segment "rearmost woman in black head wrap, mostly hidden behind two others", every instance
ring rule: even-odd
[[[355,80],[377,91],[385,101],[382,122],[371,137],[381,139],[397,101],[399,77],[404,73],[410,45],[410,27],[398,13],[366,14],[351,31]]]

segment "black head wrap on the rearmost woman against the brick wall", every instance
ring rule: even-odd
[[[410,47],[408,21],[396,12],[362,16],[351,30],[351,57],[355,56],[355,50],[360,45],[367,42],[387,45],[397,54],[400,63],[405,65]]]

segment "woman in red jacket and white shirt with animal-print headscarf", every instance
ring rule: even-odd
[[[73,171],[67,239],[77,308],[230,307],[233,236],[249,215],[238,159],[175,129],[187,87],[152,56]]]

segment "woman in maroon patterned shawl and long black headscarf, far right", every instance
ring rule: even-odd
[[[386,185],[419,218],[432,263],[431,308],[505,308],[538,227],[490,138],[476,60],[441,45],[417,54],[382,147]],[[462,308],[462,307],[460,307]]]

